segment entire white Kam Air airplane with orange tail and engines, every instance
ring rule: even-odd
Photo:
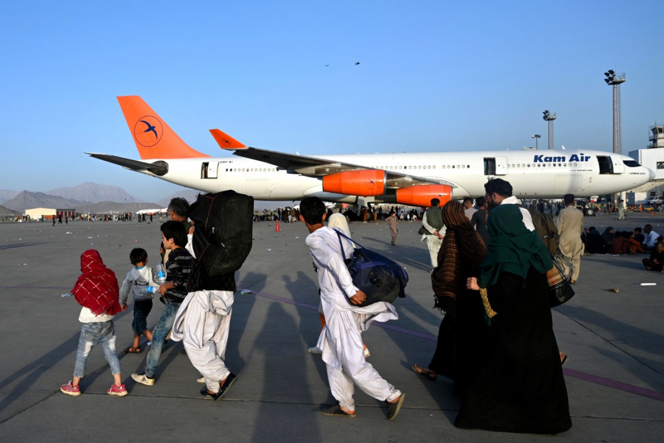
[[[484,195],[501,177],[523,199],[607,195],[651,181],[655,173],[625,155],[605,151],[467,151],[355,155],[295,155],[247,147],[210,130],[236,157],[210,157],[187,143],[138,96],[118,97],[141,160],[90,156],[199,191],[233,189],[256,200],[398,203],[430,206]],[[238,158],[240,157],[240,158]]]

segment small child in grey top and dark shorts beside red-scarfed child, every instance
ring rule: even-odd
[[[134,268],[127,272],[122,287],[120,288],[120,306],[122,311],[127,310],[127,297],[129,292],[133,297],[133,343],[125,348],[125,353],[141,353],[143,350],[139,345],[141,335],[145,335],[147,341],[152,341],[152,333],[147,329],[147,315],[152,310],[153,292],[159,288],[152,276],[152,268],[147,268],[147,251],[143,248],[133,248],[129,253],[129,261]]]

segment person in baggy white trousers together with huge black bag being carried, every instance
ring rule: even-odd
[[[224,191],[200,195],[191,205],[187,250],[194,256],[189,294],[175,316],[171,339],[182,340],[191,364],[203,375],[201,395],[220,400],[237,377],[224,362],[234,272],[251,250],[254,199]]]

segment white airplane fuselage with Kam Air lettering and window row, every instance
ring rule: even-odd
[[[441,179],[452,183],[454,198],[484,195],[484,183],[500,177],[511,183],[514,194],[524,199],[560,199],[607,195],[643,185],[654,177],[653,171],[625,155],[606,151],[469,151],[465,153],[375,153],[356,155],[317,155],[373,169]],[[215,193],[233,189],[256,200],[299,200],[315,195],[325,201],[355,203],[356,196],[323,191],[321,179],[297,171],[286,171],[241,157],[203,157],[187,159],[144,159],[146,163],[164,161],[163,175],[146,175],[200,191]],[[375,203],[394,203],[393,196],[376,196]]]

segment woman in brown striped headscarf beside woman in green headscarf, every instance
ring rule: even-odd
[[[468,290],[466,279],[479,275],[486,246],[463,213],[463,205],[448,201],[442,208],[447,233],[438,251],[438,266],[431,275],[435,308],[445,316],[438,329],[436,352],[428,368],[414,365],[413,371],[435,380],[444,375],[454,380],[454,395],[460,396],[465,380],[483,358],[486,322],[481,298]]]

